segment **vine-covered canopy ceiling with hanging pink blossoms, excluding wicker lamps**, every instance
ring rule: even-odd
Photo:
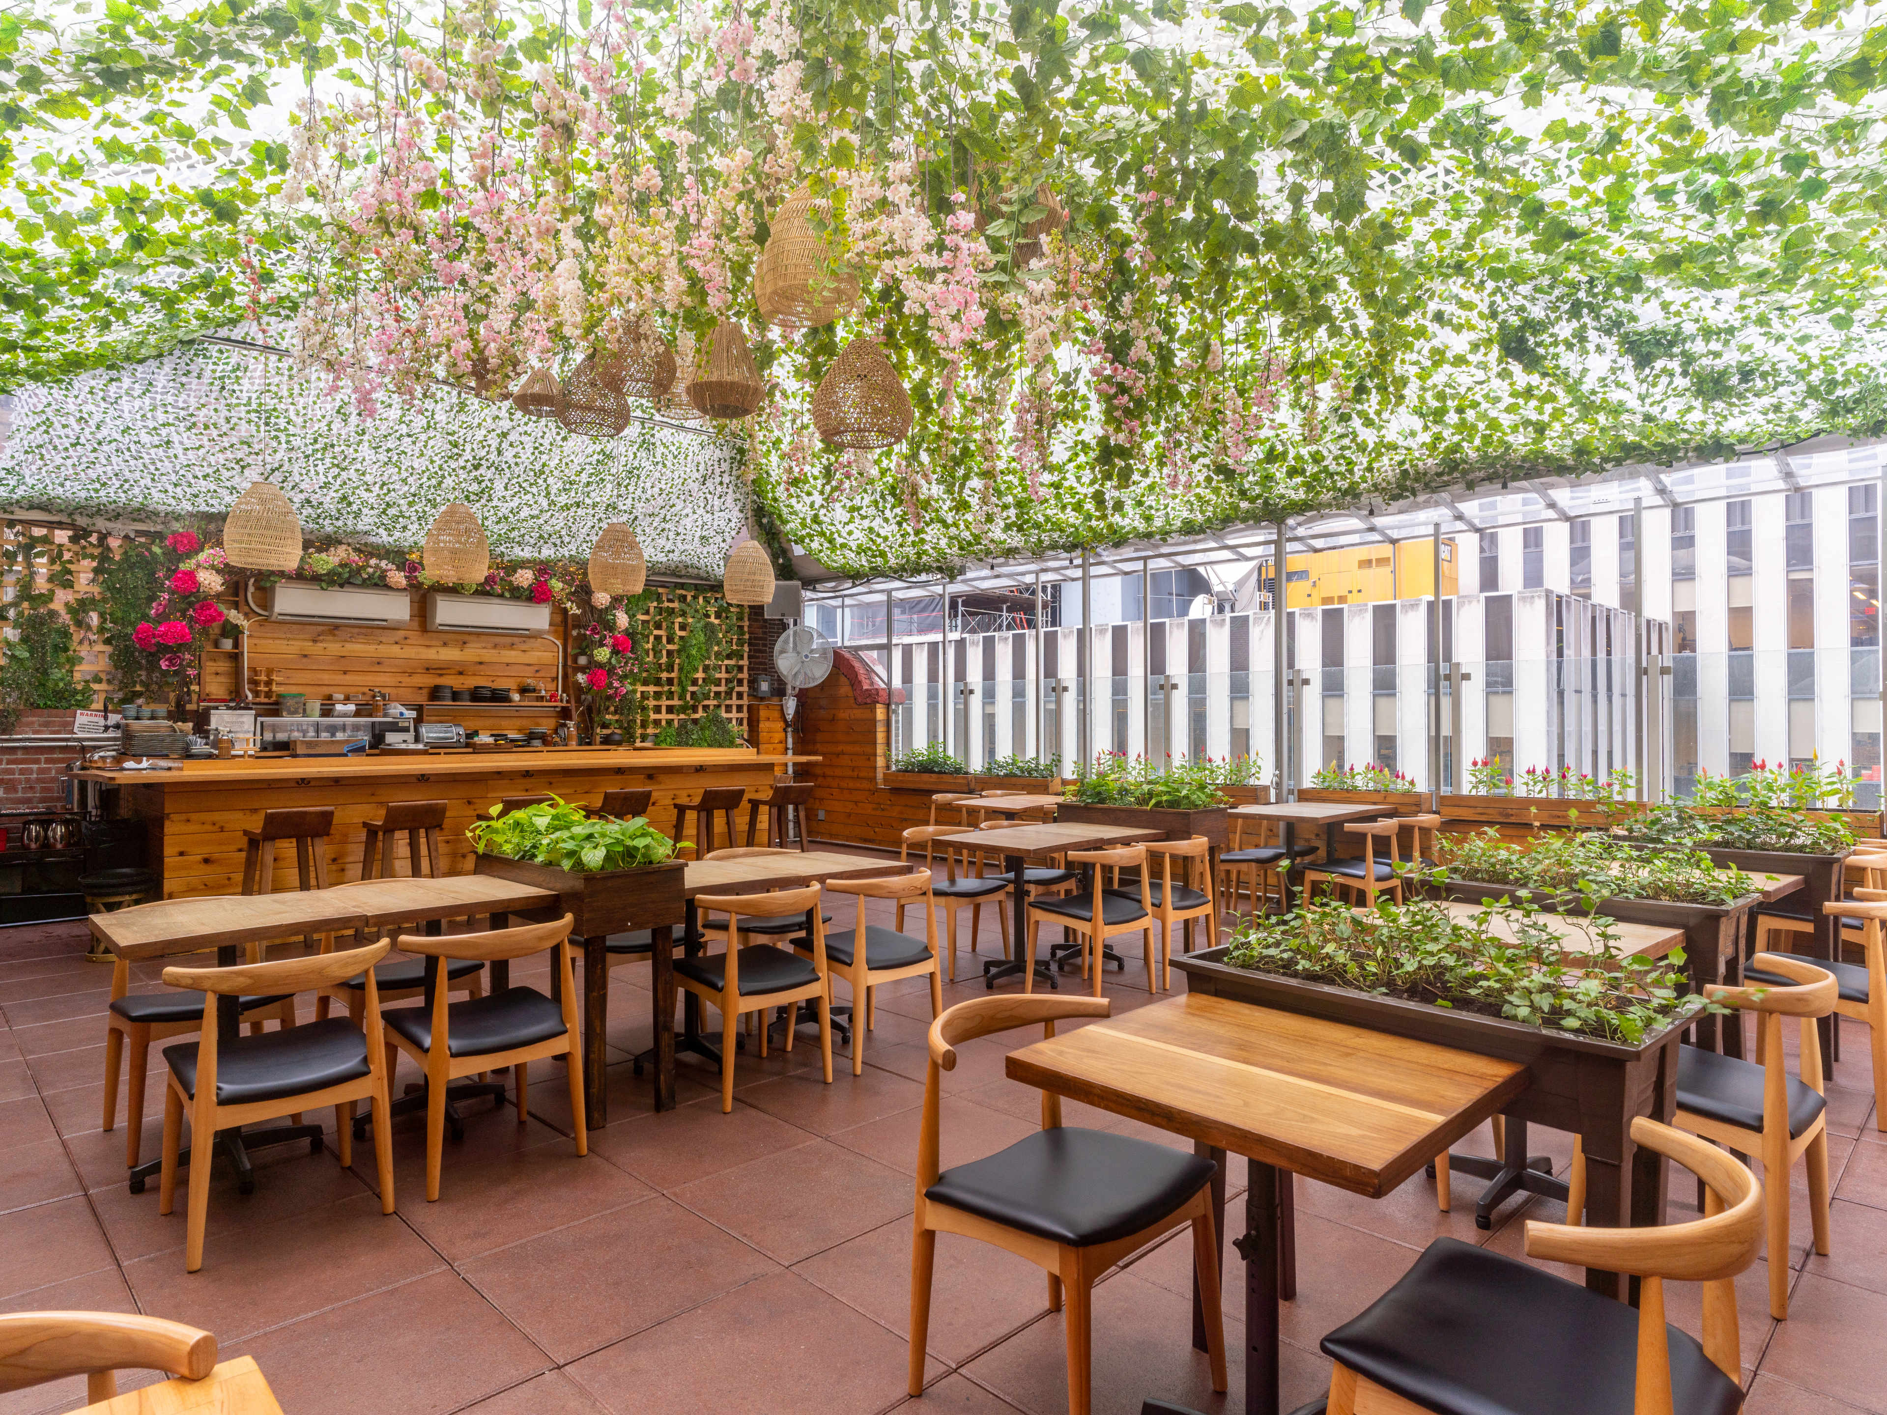
[[[738,321],[743,475],[847,574],[1887,421],[1864,4],[106,0],[0,57],[0,381],[294,315],[485,419],[436,385]],[[800,189],[862,296],[789,332]],[[810,417],[859,336],[877,453]]]

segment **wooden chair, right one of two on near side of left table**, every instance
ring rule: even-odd
[[[572,915],[542,924],[493,928],[485,934],[402,934],[400,951],[434,960],[436,983],[447,955],[496,962],[500,958],[528,958],[545,949],[557,949],[551,968],[570,975]],[[445,1151],[447,1089],[460,1075],[511,1068],[517,1089],[517,1123],[525,1123],[530,1062],[542,1057],[562,1057],[570,1079],[570,1126],[577,1155],[589,1155],[589,1136],[583,1130],[583,1041],[577,1032],[577,990],[562,989],[562,1000],[538,992],[534,987],[509,987],[489,998],[447,1002],[443,987],[432,987],[432,996],[421,1007],[394,1007],[385,1013],[387,1041],[396,1049],[387,1062],[392,1081],[404,1051],[426,1074],[426,1202],[440,1196],[440,1164]],[[502,1096],[500,1096],[502,1106]],[[379,1128],[374,1130],[376,1140]]]

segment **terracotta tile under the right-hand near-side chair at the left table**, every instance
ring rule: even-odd
[[[602,1155],[579,1157],[562,1138],[506,1158],[442,1168],[434,1204],[426,1202],[423,1174],[406,1181],[394,1174],[400,1215],[447,1262],[638,1204],[651,1192]]]

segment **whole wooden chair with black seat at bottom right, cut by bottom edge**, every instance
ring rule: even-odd
[[[1519,1258],[1438,1238],[1323,1338],[1336,1362],[1328,1415],[1740,1409],[1734,1277],[1757,1257],[1762,1187],[1723,1151],[1657,1121],[1632,1121],[1632,1140],[1704,1181],[1706,1217],[1662,1228],[1528,1219],[1527,1257],[1638,1277],[1636,1311]],[[1704,1285],[1702,1341],[1664,1321],[1666,1281]]]

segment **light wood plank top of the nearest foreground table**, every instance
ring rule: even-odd
[[[1202,992],[1011,1051],[1008,1074],[1370,1198],[1527,1087],[1519,1062]]]

